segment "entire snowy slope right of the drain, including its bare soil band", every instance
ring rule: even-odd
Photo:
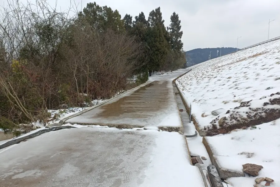
[[[246,163],[263,167],[258,176],[227,180],[248,187],[268,177],[275,180],[271,186],[280,187],[280,40],[189,69],[176,84],[219,167],[241,174]],[[217,109],[221,113],[214,116],[211,111]]]

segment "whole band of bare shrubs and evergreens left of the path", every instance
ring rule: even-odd
[[[8,0],[0,13],[0,129],[17,134],[20,124],[45,124],[49,109],[83,107],[153,71],[183,67],[179,16],[170,19],[165,27],[160,7],[147,19],[143,12],[122,19],[95,2],[61,12],[45,0]]]

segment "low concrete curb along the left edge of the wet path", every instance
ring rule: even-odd
[[[86,112],[88,112],[88,111],[90,111],[90,110],[92,110],[92,109],[94,109],[94,108],[96,108],[96,107],[99,107],[99,106],[101,106],[101,105],[103,105],[103,104],[105,104],[105,103],[107,103],[107,102],[109,102],[109,101],[111,101],[111,100],[113,100],[113,99],[115,99],[115,98],[118,98],[118,97],[120,97],[120,96],[122,96],[122,95],[124,95],[124,94],[126,94],[126,93],[128,93],[128,92],[130,92],[130,91],[132,91],[132,90],[134,90],[134,89],[138,89],[138,88],[140,88],[140,87],[142,87],[142,86],[146,86],[147,84],[151,84],[151,82],[147,81],[146,83],[141,84],[141,85],[139,85],[139,86],[137,86],[137,87],[135,87],[135,88],[133,88],[133,89],[130,89],[130,90],[128,90],[128,91],[126,91],[126,92],[124,92],[124,93],[122,93],[122,94],[119,94],[119,95],[117,95],[116,97],[112,97],[112,98],[107,99],[106,101],[104,101],[104,102],[102,102],[102,103],[99,103],[99,104],[97,104],[97,105],[94,105],[94,106],[92,106],[92,107],[89,107],[89,108],[87,108],[87,109],[84,109],[84,110],[82,110],[81,112],[78,112],[78,113],[75,113],[75,114],[73,114],[73,115],[71,115],[71,116],[65,117],[65,118],[61,119],[58,123],[52,123],[52,124],[50,124],[50,125],[47,125],[47,127],[62,126],[68,119],[71,119],[71,118],[73,118],[73,117],[76,117],[76,116],[79,116],[79,115],[81,115],[81,114],[83,114],[83,113],[86,113]]]

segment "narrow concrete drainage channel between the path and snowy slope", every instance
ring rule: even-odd
[[[198,135],[198,133],[197,133],[197,131],[190,132],[190,130],[188,129],[189,125],[192,125],[192,123],[190,123],[190,121],[189,121],[189,114],[187,113],[187,107],[185,106],[186,102],[184,101],[184,98],[182,97],[178,86],[175,84],[175,81],[176,81],[176,79],[173,81],[173,89],[174,89],[174,93],[175,93],[178,110],[180,111],[181,121],[184,126],[184,136],[186,137],[186,144],[187,144],[187,148],[189,151],[188,138],[196,137]],[[192,134],[189,134],[189,133],[192,133]],[[191,154],[190,151],[189,151],[189,154]],[[208,152],[208,154],[209,154],[209,152]],[[209,157],[212,162],[211,155],[209,155]],[[212,162],[212,165],[206,165],[203,163],[203,160],[201,159],[200,156],[189,155],[189,158],[191,160],[192,165],[195,165],[199,168],[199,171],[202,175],[205,187],[224,187],[222,180],[220,178],[219,172],[217,171],[213,162]],[[227,181],[223,181],[223,182],[227,183]]]

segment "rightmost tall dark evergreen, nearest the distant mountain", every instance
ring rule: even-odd
[[[169,31],[170,35],[170,43],[172,50],[177,52],[182,52],[183,50],[183,43],[181,41],[183,31],[181,30],[181,20],[179,20],[179,15],[173,12],[170,16],[171,23],[169,27],[167,27],[167,31]]]

